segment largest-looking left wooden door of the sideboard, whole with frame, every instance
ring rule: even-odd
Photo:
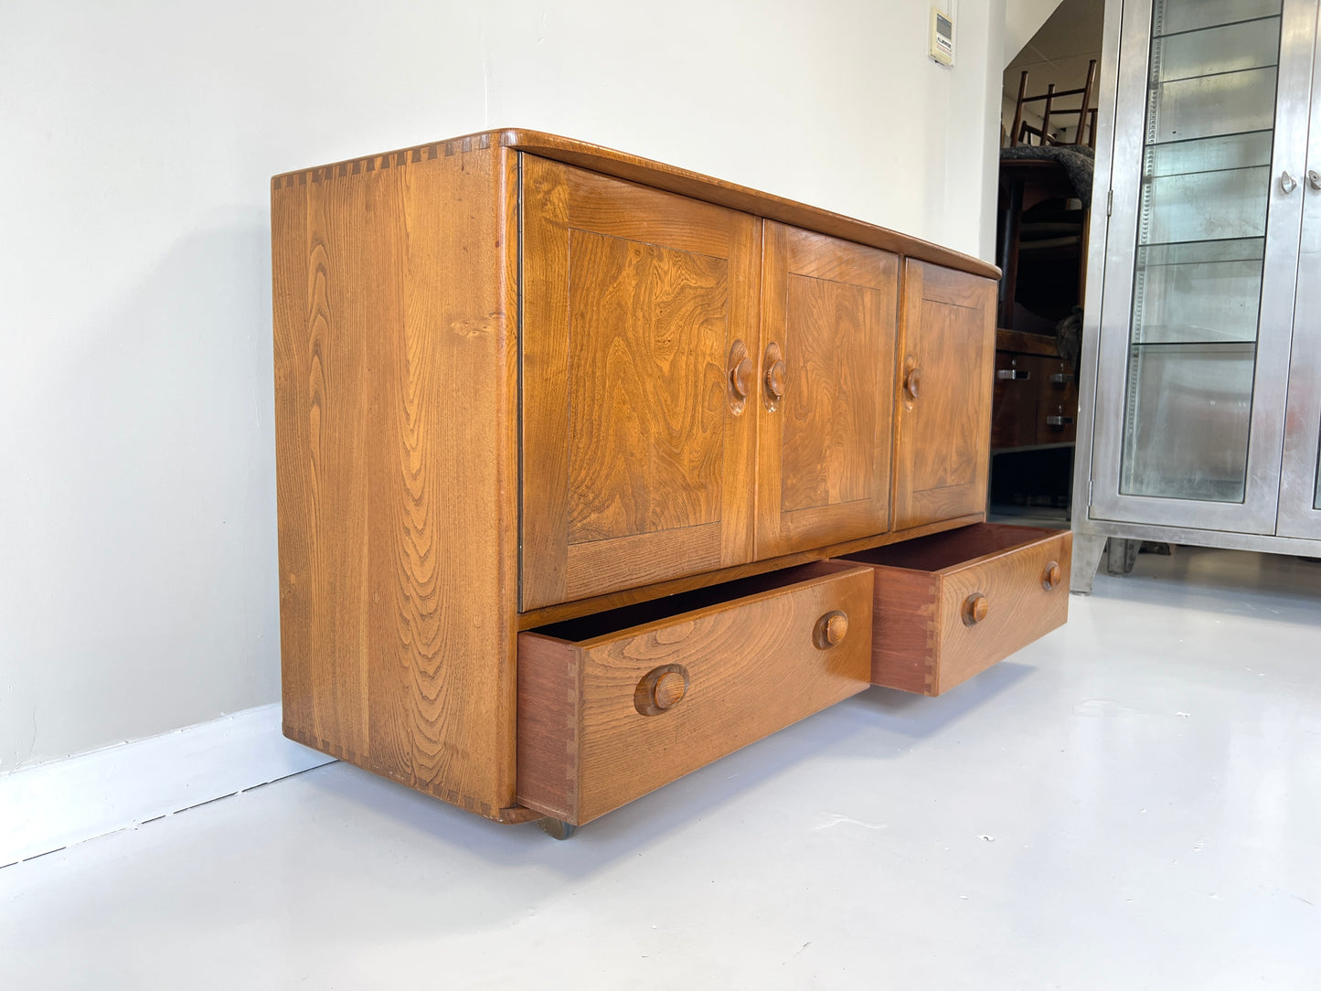
[[[528,155],[520,192],[522,608],[748,562],[760,222]]]

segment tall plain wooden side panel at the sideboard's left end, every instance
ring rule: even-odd
[[[473,811],[514,802],[511,155],[272,192],[288,736]]]

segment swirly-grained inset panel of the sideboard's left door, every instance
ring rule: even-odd
[[[720,258],[572,231],[569,544],[719,522],[728,276]]]

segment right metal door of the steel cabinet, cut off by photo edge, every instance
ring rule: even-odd
[[[1313,59],[1308,135],[1308,172],[1299,177],[1303,240],[1276,532],[1321,539],[1321,40]]]

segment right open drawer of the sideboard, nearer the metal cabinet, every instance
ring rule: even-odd
[[[841,560],[876,571],[872,682],[939,695],[1069,618],[1073,534],[976,523]]]

